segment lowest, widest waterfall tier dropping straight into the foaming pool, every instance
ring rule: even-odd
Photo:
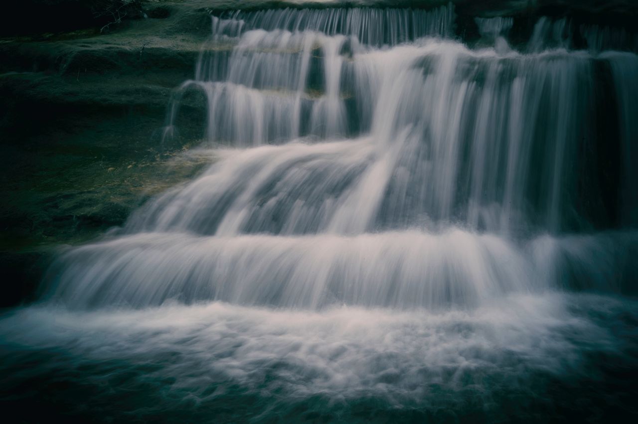
[[[462,230],[354,237],[140,233],[63,254],[52,296],[73,308],[223,300],[322,309],[477,307],[508,293],[635,287],[638,234],[513,242]]]

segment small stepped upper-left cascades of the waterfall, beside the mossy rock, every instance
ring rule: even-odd
[[[434,11],[288,8],[213,16],[211,40],[202,48],[195,79],[178,90],[165,134],[174,134],[184,92],[197,87],[207,99],[211,142],[260,145],[302,135],[346,136],[356,129],[348,128],[348,94],[340,84],[345,56],[360,45],[397,45],[450,35],[453,28],[451,5]]]

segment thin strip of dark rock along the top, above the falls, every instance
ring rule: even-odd
[[[130,19],[168,18],[182,2],[145,0],[24,0],[12,2],[10,13],[0,17],[0,36],[16,34],[57,33],[78,29],[112,29]],[[308,4],[288,0],[191,0],[190,6],[210,10],[258,10],[278,7],[304,7]],[[402,6],[434,8],[454,3],[459,15],[574,15],[598,23],[606,21],[628,24],[638,16],[638,3],[633,0],[334,0],[310,3],[311,7]],[[119,22],[121,20],[121,22]]]

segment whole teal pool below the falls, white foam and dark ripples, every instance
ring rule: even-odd
[[[627,420],[634,301],[516,295],[470,311],[178,304],[3,316],[1,394],[115,421]]]

